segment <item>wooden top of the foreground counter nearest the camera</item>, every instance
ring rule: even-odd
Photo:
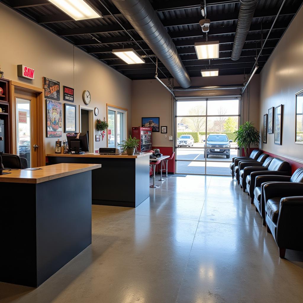
[[[9,171],[11,174],[0,175],[0,182],[37,184],[70,175],[75,175],[84,171],[90,171],[92,169],[100,167],[101,164],[60,163],[42,166],[42,169],[34,171],[18,169]]]

